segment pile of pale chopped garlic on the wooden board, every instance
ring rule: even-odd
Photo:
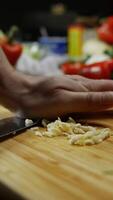
[[[40,131],[39,127],[31,128],[31,131],[37,136],[55,137],[64,135],[69,139],[70,144],[93,145],[102,142],[104,139],[113,135],[109,128],[97,129],[92,126],[84,126],[76,123],[72,118],[67,122],[62,122],[60,118],[55,122],[46,123],[43,120],[45,131]]]

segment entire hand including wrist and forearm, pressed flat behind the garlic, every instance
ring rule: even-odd
[[[113,106],[113,81],[23,75],[0,52],[0,103],[26,117],[101,111]]]

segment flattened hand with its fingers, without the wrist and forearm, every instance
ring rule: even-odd
[[[28,81],[29,82],[29,81]],[[31,78],[21,95],[27,116],[55,117],[67,113],[101,111],[113,106],[113,81],[81,76]]]

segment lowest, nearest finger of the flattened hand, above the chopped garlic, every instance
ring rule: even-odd
[[[96,112],[113,106],[113,92],[64,92],[70,112]]]

